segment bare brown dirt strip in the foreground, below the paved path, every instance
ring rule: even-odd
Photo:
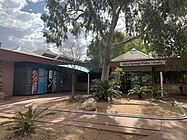
[[[39,127],[35,134],[26,137],[13,135],[2,126],[0,130],[0,140],[139,140],[143,138],[138,135],[50,124]]]

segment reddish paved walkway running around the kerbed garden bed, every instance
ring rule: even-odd
[[[25,110],[24,106],[27,104],[59,98],[62,98],[60,94],[14,97],[0,102],[0,116],[10,117],[16,111]],[[187,107],[187,96],[177,98]],[[151,120],[60,111],[56,113],[55,118],[48,117],[46,122],[145,135],[143,140],[187,140],[187,120]]]

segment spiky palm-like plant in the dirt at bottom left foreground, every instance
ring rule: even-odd
[[[46,115],[52,115],[52,113],[44,114],[46,109],[33,109],[29,106],[26,112],[17,112],[15,117],[12,117],[10,121],[3,122],[2,125],[8,125],[7,130],[13,131],[21,136],[26,136],[35,132],[36,123],[38,120]]]

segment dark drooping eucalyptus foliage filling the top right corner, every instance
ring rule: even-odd
[[[183,57],[187,52],[187,1],[146,1],[140,20],[144,40],[161,57]]]

